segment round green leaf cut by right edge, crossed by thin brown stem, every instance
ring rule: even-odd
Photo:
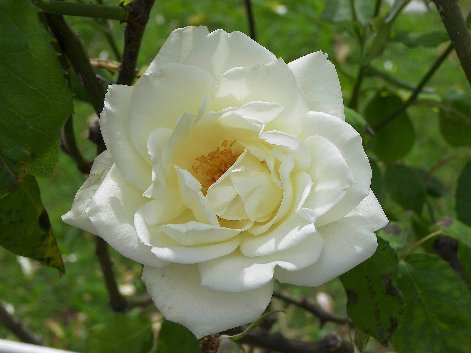
[[[471,93],[454,91],[443,97],[447,104],[461,115],[440,109],[440,132],[448,144],[452,146],[471,146]]]

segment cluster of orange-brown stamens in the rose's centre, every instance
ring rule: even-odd
[[[196,178],[202,186],[202,192],[206,195],[209,187],[218,180],[227,169],[229,169],[239,157],[239,155],[232,152],[233,141],[227,146],[227,140],[224,140],[221,144],[224,149],[219,151],[219,146],[209,152],[206,156],[196,157],[195,160],[199,162],[198,165],[193,165],[191,168],[196,173]]]

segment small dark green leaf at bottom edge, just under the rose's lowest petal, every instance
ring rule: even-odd
[[[185,326],[165,320],[159,331],[156,353],[195,353],[199,345],[199,340]]]

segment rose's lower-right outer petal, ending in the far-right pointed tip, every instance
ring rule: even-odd
[[[317,228],[324,238],[324,248],[316,263],[299,271],[275,269],[275,278],[298,286],[320,286],[345,273],[372,256],[377,247],[376,230],[388,219],[374,193],[347,216]]]

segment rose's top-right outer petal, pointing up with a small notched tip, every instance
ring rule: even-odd
[[[288,64],[300,85],[309,110],[345,120],[342,91],[335,66],[322,51],[302,56]]]

